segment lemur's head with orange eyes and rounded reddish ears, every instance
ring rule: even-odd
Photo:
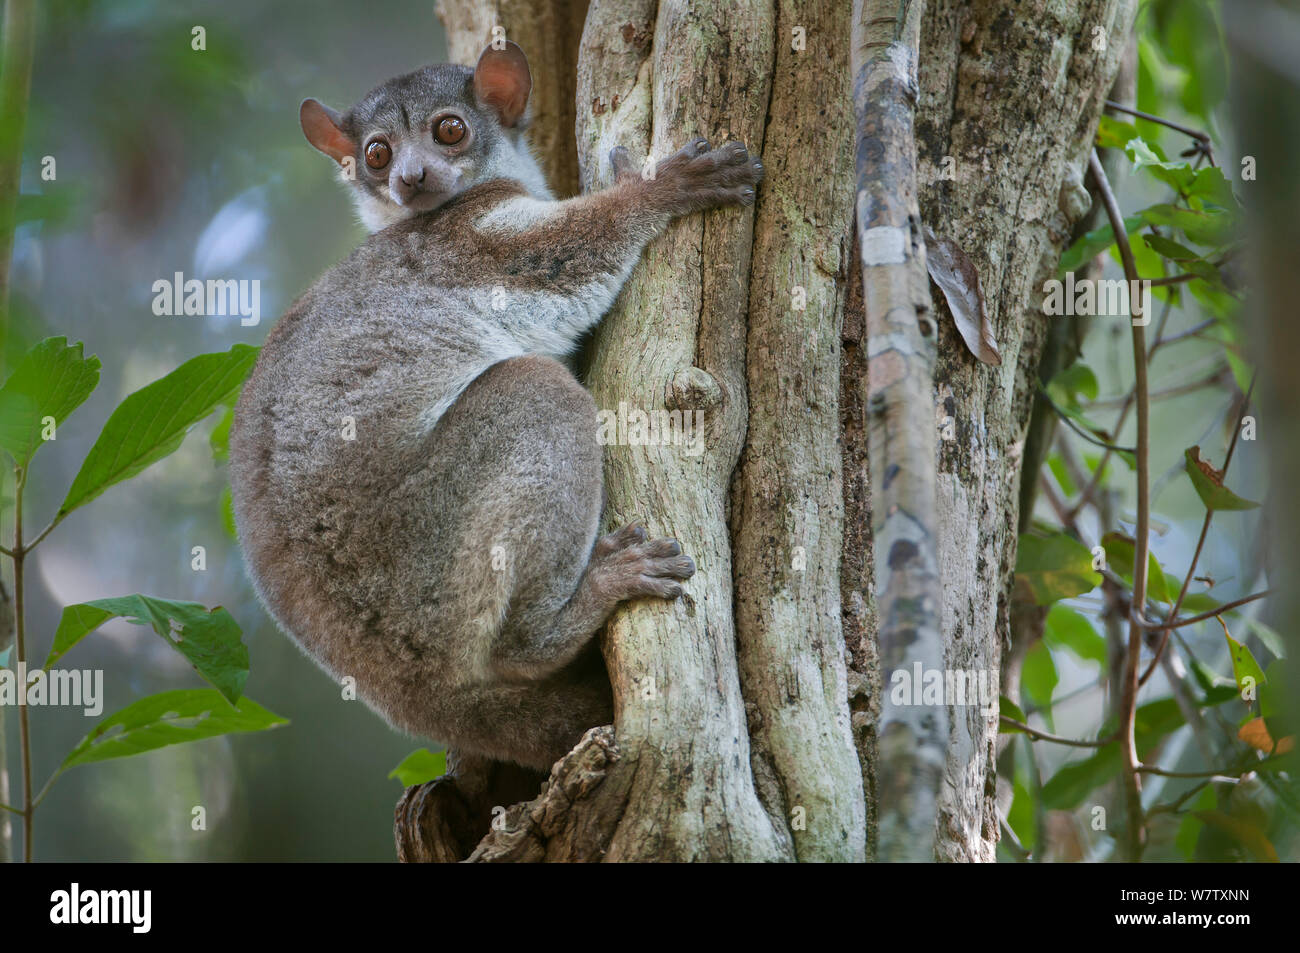
[[[474,69],[425,66],[390,79],[342,114],[304,100],[299,120],[307,140],[342,168],[361,221],[378,231],[493,178],[549,198],[524,138],[532,88],[524,51],[507,42],[488,47]]]

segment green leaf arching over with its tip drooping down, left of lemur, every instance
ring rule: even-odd
[[[239,701],[248,680],[248,647],[240,638],[239,625],[220,606],[208,610],[198,602],[124,595],[68,606],[55,631],[46,670],[82,638],[118,616],[136,625],[151,625],[231,705]]]

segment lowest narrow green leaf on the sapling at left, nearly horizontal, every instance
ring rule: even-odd
[[[140,698],[105,718],[64,758],[58,770],[218,735],[265,731],[281,724],[289,722],[251,698],[240,698],[231,707],[209,688],[162,692]]]

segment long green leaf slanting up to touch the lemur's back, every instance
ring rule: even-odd
[[[127,397],[82,463],[60,516],[181,446],[191,426],[234,399],[256,358],[257,348],[248,345],[235,345],[225,354],[200,354]]]

